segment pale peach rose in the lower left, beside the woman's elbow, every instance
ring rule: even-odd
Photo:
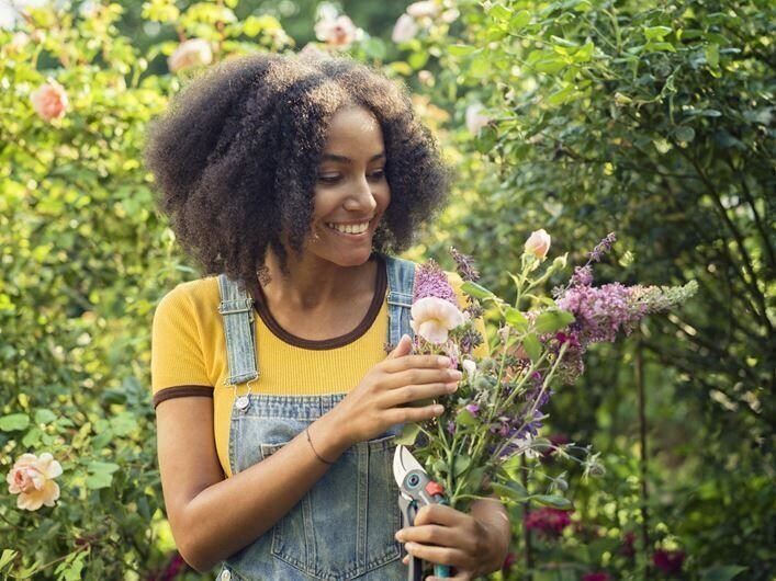
[[[19,494],[16,505],[26,511],[36,511],[42,505],[54,506],[59,498],[59,485],[54,478],[61,475],[61,466],[44,452],[38,458],[34,454],[22,454],[8,472],[5,481],[9,492]]]

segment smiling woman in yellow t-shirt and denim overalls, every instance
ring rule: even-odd
[[[406,93],[346,58],[233,59],[176,99],[147,163],[178,240],[221,274],[179,285],[154,319],[159,468],[183,558],[224,561],[223,580],[398,580],[401,542],[457,579],[498,569],[497,500],[426,508],[394,537],[391,441],[437,417],[412,403],[461,376],[411,354],[414,265],[386,253],[449,183]]]

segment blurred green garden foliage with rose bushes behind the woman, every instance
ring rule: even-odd
[[[0,489],[3,579],[212,579],[162,511],[150,323],[199,274],[144,139],[203,68],[300,49],[407,83],[454,162],[408,257],[451,270],[454,246],[508,296],[532,230],[573,263],[616,231],[599,283],[699,284],[553,396],[543,435],[606,474],[543,458],[572,508],[514,509],[493,578],[774,579],[773,2],[2,0],[0,26],[0,472],[25,452],[64,469],[52,508]]]

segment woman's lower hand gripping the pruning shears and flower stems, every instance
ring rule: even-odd
[[[445,504],[423,506],[414,526],[402,528],[396,539],[405,543],[409,557],[454,567],[451,579],[471,581],[501,569],[509,549],[509,537],[492,524]],[[439,581],[437,577],[426,580]]]

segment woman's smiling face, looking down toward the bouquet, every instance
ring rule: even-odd
[[[367,109],[335,113],[317,168],[312,232],[305,251],[340,266],[369,260],[391,189],[380,123]]]

